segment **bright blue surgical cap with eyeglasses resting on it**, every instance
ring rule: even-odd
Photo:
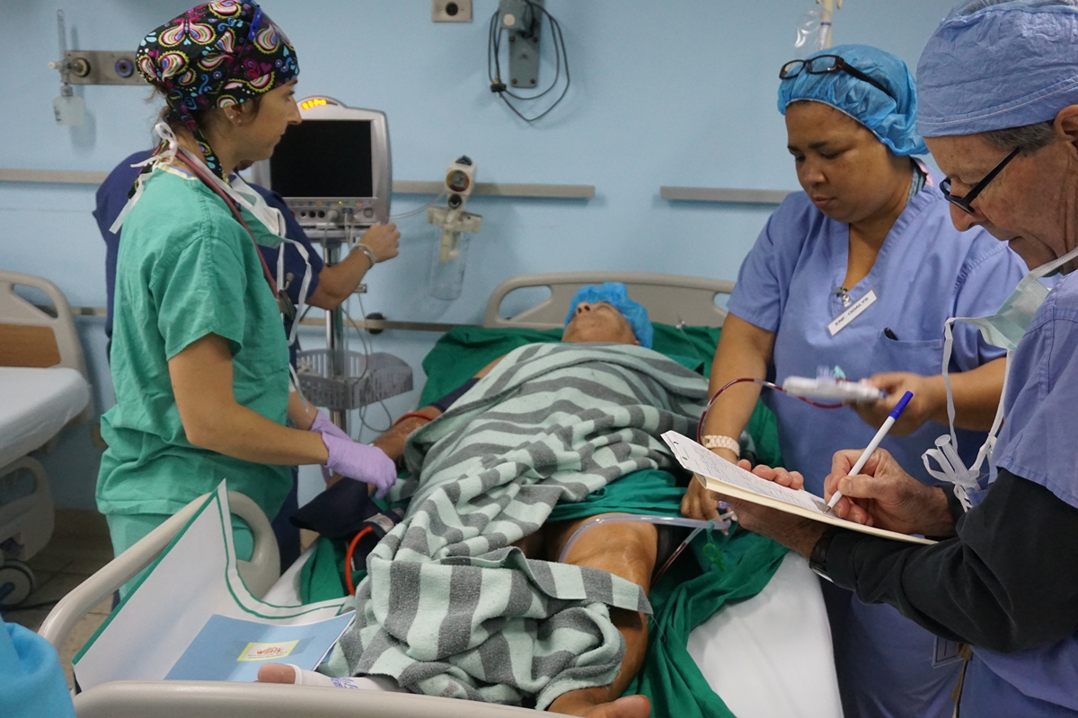
[[[848,72],[802,72],[778,85],[779,112],[785,115],[787,105],[798,100],[824,102],[865,125],[896,155],[928,154],[928,147],[913,127],[917,90],[906,62],[868,45],[838,45],[814,53],[808,59],[819,55],[838,55],[886,87],[894,97]]]

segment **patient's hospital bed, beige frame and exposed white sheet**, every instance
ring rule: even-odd
[[[561,327],[571,296],[582,284],[624,282],[631,297],[644,304],[655,322],[721,326],[725,310],[716,304],[732,282],[664,274],[569,272],[513,278],[499,285],[487,302],[484,326],[545,329]],[[507,297],[524,291],[534,298],[526,309],[503,316]],[[530,294],[529,294],[530,293]],[[40,633],[59,646],[94,606],[150,565],[185,525],[202,499],[192,502],[149,536],[69,593],[49,615]],[[239,572],[252,593],[275,605],[299,605],[302,566],[308,549],[277,576],[277,551],[265,517],[245,496],[230,492],[233,513],[254,534],[254,554]],[[697,627],[688,649],[713,689],[738,718],[842,716],[830,629],[818,579],[804,559],[788,554],[759,594],[724,607]],[[74,699],[79,718],[199,716],[206,718],[403,718],[404,716],[534,715],[523,708],[411,693],[357,691],[305,686],[221,681],[114,681],[91,688]]]

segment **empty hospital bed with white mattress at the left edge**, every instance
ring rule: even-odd
[[[31,304],[17,286],[52,306]],[[49,477],[29,454],[68,424],[92,417],[82,348],[64,294],[40,277],[0,271],[0,606],[32,592],[26,561],[53,533]]]

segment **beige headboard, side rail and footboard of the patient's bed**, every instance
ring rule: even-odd
[[[628,295],[645,305],[651,319],[668,324],[721,326],[725,311],[715,304],[719,294],[729,294],[733,283],[720,280],[667,274],[619,272],[569,272],[530,274],[500,284],[487,304],[484,326],[561,327],[572,294],[584,284],[624,282]],[[551,296],[511,319],[499,313],[505,297],[517,288],[549,287]],[[263,597],[278,578],[278,559],[273,532],[265,516],[246,496],[230,492],[233,513],[243,518],[254,534],[254,555],[240,562],[240,574],[251,592]],[[100,601],[136,576],[168,546],[203,498],[192,502],[149,536],[114,559],[69,593],[45,619],[39,633],[54,646],[63,645],[79,619]],[[273,545],[273,550],[268,546]],[[309,554],[301,557],[301,561]],[[299,563],[299,562],[298,562]],[[802,562],[803,563],[803,562]],[[294,580],[295,566],[285,576]],[[286,591],[288,587],[280,587]],[[813,585],[815,588],[815,585]],[[277,593],[280,589],[275,589]],[[816,599],[819,599],[817,595]],[[748,602],[746,602],[748,603]],[[821,601],[818,601],[821,604]],[[743,604],[744,605],[744,604]],[[733,608],[738,608],[734,606]],[[819,607],[821,610],[821,605]],[[791,617],[791,620],[794,620]],[[829,640],[829,636],[828,636]],[[769,672],[770,673],[770,672]],[[833,672],[831,672],[833,681]],[[777,679],[777,678],[776,678]],[[837,687],[834,700],[837,705]],[[442,699],[412,693],[357,691],[305,686],[273,686],[222,681],[116,681],[97,686],[74,696],[79,718],[509,718],[535,715],[534,710],[510,706]],[[823,712],[807,707],[798,716],[841,716],[830,707]]]

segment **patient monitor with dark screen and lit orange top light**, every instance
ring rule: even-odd
[[[321,96],[299,105],[303,123],[254,165],[254,182],[281,195],[304,229],[388,222],[393,181],[385,113]]]

